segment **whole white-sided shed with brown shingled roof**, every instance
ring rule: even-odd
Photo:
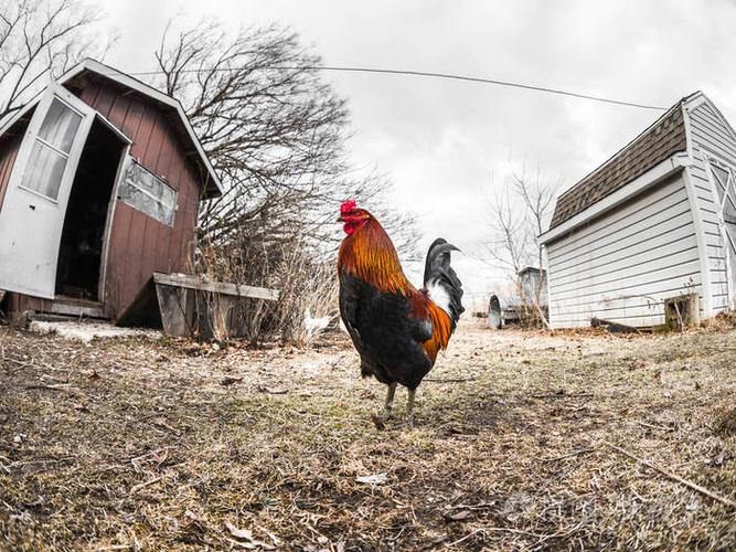
[[[564,192],[540,236],[552,327],[733,308],[735,178],[736,134],[697,92]]]

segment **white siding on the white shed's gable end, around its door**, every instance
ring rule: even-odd
[[[714,191],[708,180],[706,156],[736,167],[736,139],[722,117],[704,102],[687,112],[691,131],[693,167],[689,169],[697,197],[696,204],[703,221],[704,243],[707,251],[708,279],[713,315],[728,307],[727,259],[723,234],[718,225]]]

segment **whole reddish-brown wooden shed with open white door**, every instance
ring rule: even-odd
[[[220,194],[179,102],[85,60],[0,127],[6,310],[119,317],[154,272],[191,270]]]

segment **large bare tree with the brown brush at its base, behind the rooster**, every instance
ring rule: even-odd
[[[161,74],[153,84],[182,102],[225,188],[201,212],[200,270],[312,289],[314,300],[326,300],[324,287],[309,279],[335,277],[323,267],[332,266],[335,219],[349,198],[380,217],[401,253],[416,250],[414,221],[387,208],[391,181],[351,167],[346,102],[296,33],[273,25],[232,35],[216,22],[182,31],[170,24],[156,57]],[[281,310],[266,318],[300,319],[303,305],[305,297],[285,293]],[[292,340],[292,323],[282,323],[281,333]]]

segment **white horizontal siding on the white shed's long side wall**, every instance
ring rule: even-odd
[[[548,244],[547,256],[554,328],[589,326],[593,317],[658,326],[664,323],[663,299],[702,293],[681,174]]]

